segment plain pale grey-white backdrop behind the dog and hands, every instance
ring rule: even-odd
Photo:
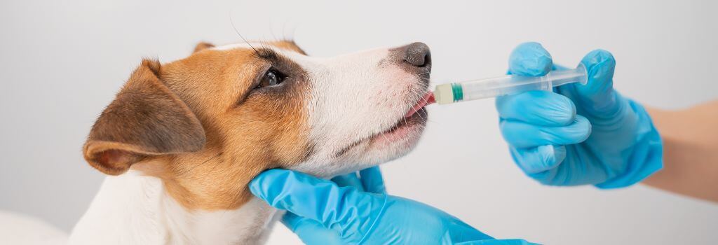
[[[141,57],[199,41],[293,37],[332,56],[414,41],[432,81],[502,75],[513,47],[544,44],[572,66],[592,49],[617,59],[615,86],[654,107],[718,97],[715,1],[1,1],[0,208],[69,231],[103,176],[81,158],[95,117]],[[430,108],[413,153],[384,165],[388,190],[499,238],[546,244],[715,244],[718,205],[644,186],[541,186],[516,168],[493,100]],[[272,244],[298,241],[277,226]]]

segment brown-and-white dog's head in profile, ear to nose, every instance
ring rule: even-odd
[[[161,178],[187,208],[246,202],[269,168],[328,177],[408,153],[426,124],[422,43],[308,57],[294,42],[199,44],[143,60],[84,146],[103,173]]]

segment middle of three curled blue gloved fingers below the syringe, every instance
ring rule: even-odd
[[[539,145],[571,145],[582,143],[591,135],[591,123],[586,117],[576,115],[576,120],[562,127],[546,127],[501,120],[503,138],[516,148],[533,148]]]

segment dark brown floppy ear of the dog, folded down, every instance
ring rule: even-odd
[[[85,160],[109,175],[157,155],[201,150],[205,131],[185,102],[157,77],[160,64],[144,59],[102,112],[83,148]]]

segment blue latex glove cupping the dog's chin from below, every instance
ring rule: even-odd
[[[282,223],[305,244],[528,244],[494,240],[424,203],[389,196],[378,167],[332,181],[292,170],[266,170],[249,188],[288,211]]]

